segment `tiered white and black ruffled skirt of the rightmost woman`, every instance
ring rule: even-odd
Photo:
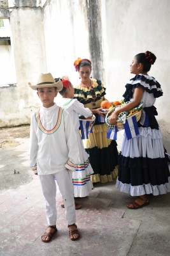
[[[132,196],[170,192],[170,175],[159,129],[139,127],[139,135],[127,140],[124,134],[118,159],[116,187]]]

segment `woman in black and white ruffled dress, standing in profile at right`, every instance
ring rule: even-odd
[[[137,198],[127,207],[138,209],[149,204],[146,195],[162,195],[170,192],[168,159],[162,143],[162,133],[155,118],[156,98],[162,96],[160,84],[148,75],[156,56],[142,52],[132,60],[131,74],[135,74],[125,85],[124,101],[129,103],[116,108],[110,116],[110,124],[117,124],[117,116],[122,111],[130,111],[143,102],[141,120],[138,122],[139,135],[128,140],[124,134],[119,156],[116,187]]]

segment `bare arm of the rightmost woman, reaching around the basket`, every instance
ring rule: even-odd
[[[137,87],[134,89],[133,100],[124,106],[118,107],[115,111],[111,114],[109,118],[110,124],[116,125],[117,124],[117,117],[122,111],[130,111],[133,108],[136,108],[141,102],[143,96],[144,89],[142,87]]]

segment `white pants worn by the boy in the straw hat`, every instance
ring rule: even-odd
[[[39,175],[41,182],[41,188],[45,197],[45,211],[46,220],[48,225],[56,225],[57,221],[57,207],[56,207],[56,181],[64,200],[64,206],[66,209],[67,224],[72,225],[76,222],[76,211],[74,204],[74,189],[72,172],[65,169],[63,171],[49,174]],[[55,181],[56,180],[56,181]]]

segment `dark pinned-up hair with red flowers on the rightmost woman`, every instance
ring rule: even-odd
[[[135,58],[138,63],[143,64],[143,72],[150,71],[151,65],[153,65],[155,63],[155,60],[157,59],[155,54],[153,54],[150,51],[146,51],[145,53],[142,52],[142,53],[136,54]]]

